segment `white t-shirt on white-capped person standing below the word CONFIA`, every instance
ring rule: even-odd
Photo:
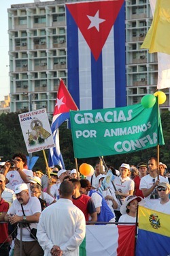
[[[121,176],[119,177],[115,177],[114,179],[114,185],[116,186],[116,189],[123,194],[129,194],[129,190],[134,190],[135,187],[135,183],[133,182],[133,180],[130,179],[130,177],[124,177],[124,179],[122,179]],[[111,188],[114,190],[112,182],[110,183]],[[126,197],[122,197],[120,196],[120,200],[122,201],[122,203],[125,201]],[[118,201],[118,208],[115,211],[120,211],[120,201],[117,199]]]

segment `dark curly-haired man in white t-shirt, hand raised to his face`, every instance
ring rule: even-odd
[[[16,185],[21,183],[28,183],[28,178],[33,177],[33,171],[24,169],[24,167],[27,166],[27,157],[24,154],[14,154],[12,159],[14,160],[16,171],[8,171],[10,166],[5,165],[5,171],[3,175],[6,177],[6,184],[9,184],[7,187],[14,190]]]

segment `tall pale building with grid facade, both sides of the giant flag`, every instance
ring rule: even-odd
[[[18,0],[19,1],[19,0]],[[10,110],[41,109],[52,114],[59,78],[67,84],[65,1],[11,5]],[[140,46],[152,23],[148,0],[126,1],[126,100],[140,102],[156,91],[157,54]],[[167,101],[161,109],[169,109]]]

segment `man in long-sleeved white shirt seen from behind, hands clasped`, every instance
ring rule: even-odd
[[[85,217],[73,205],[72,182],[62,182],[59,193],[60,199],[41,213],[37,238],[44,249],[44,256],[79,256],[79,246],[86,231]]]

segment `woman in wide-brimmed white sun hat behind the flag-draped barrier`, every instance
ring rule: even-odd
[[[142,200],[141,197],[129,195],[120,207],[122,216],[119,218],[119,223],[136,223],[137,205]]]

